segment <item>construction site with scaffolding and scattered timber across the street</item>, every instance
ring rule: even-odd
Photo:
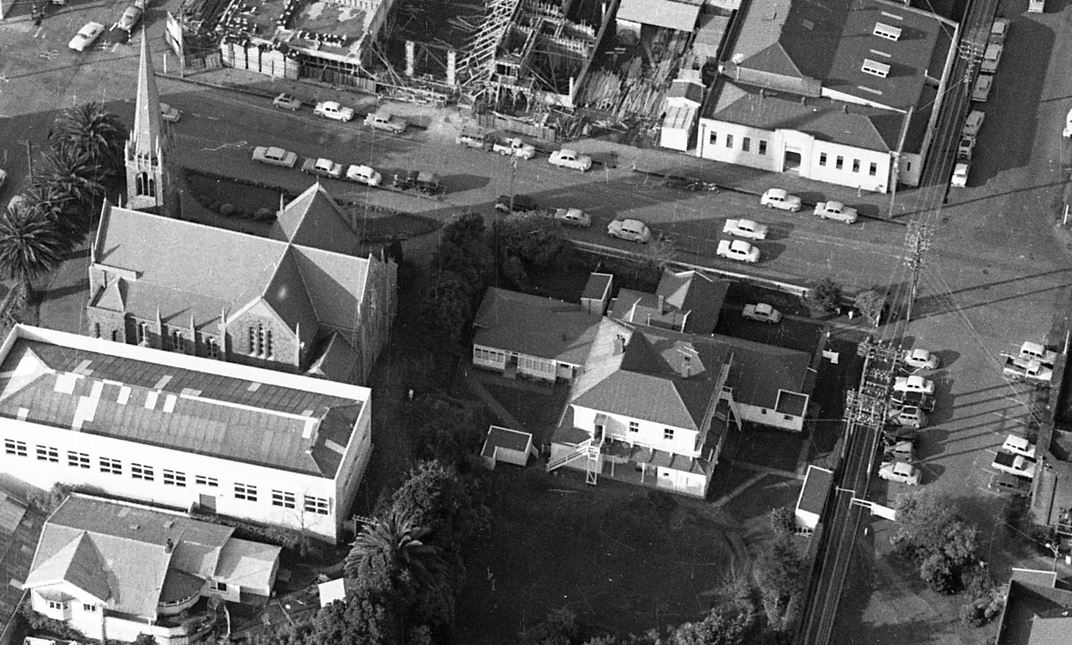
[[[684,150],[735,10],[704,0],[189,0],[182,24],[214,36],[228,66],[456,104],[481,123],[492,115],[557,139],[595,130]]]

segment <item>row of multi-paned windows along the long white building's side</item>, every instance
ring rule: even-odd
[[[19,441],[17,439],[4,439],[3,442],[4,453],[14,456],[28,456],[29,449],[26,441]],[[38,461],[59,463],[60,452],[59,449],[53,446],[34,446],[34,454]],[[76,450],[68,450],[68,466],[72,468],[90,468],[89,455],[85,452],[78,452]],[[107,475],[122,475],[123,464],[117,459],[111,459],[107,456],[99,458],[98,466],[101,472]],[[136,462],[131,462],[130,472],[132,479],[137,479],[142,481],[155,481],[157,471],[153,466],[148,464],[139,464]],[[165,486],[176,486],[180,489],[187,488],[187,474],[181,470],[174,470],[172,468],[161,469],[161,481]],[[194,475],[194,484],[207,489],[219,489],[220,480],[214,477],[209,477],[207,475]],[[241,499],[244,501],[256,501],[257,500],[257,486],[253,484],[235,482],[235,499]],[[282,508],[297,508],[297,495],[288,491],[271,491],[271,504],[272,506],[278,506]],[[307,512],[317,513],[321,515],[327,515],[329,513],[328,500],[323,497],[314,497],[312,495],[302,496],[302,508]]]

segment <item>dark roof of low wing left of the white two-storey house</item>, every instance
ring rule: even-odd
[[[578,304],[490,287],[473,321],[473,343],[582,365],[599,322]]]

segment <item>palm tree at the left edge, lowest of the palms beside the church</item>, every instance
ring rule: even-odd
[[[56,221],[29,205],[0,212],[0,276],[17,283],[23,302],[33,281],[58,267],[66,250]]]

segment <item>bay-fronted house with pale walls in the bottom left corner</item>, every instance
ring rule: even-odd
[[[229,526],[72,494],[41,531],[23,583],[30,606],[102,642],[187,645],[215,622],[202,598],[267,598],[281,549]]]

